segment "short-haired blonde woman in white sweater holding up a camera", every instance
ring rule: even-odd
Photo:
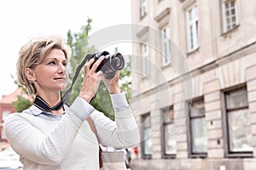
[[[67,87],[70,48],[61,37],[40,37],[20,49],[18,82],[49,108],[61,101]],[[11,147],[20,155],[24,169],[99,169],[99,144],[117,148],[139,143],[137,123],[119,88],[119,72],[106,79],[96,68],[104,57],[84,66],[84,81],[70,108],[44,110],[32,105],[9,115],[4,130]],[[93,65],[92,65],[93,64]],[[92,67],[90,68],[90,65]],[[115,122],[89,104],[104,82],[112,99]]]

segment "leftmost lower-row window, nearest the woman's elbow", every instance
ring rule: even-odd
[[[143,121],[143,158],[151,158],[152,155],[152,139],[151,139],[151,122],[150,115],[146,114],[142,117]]]

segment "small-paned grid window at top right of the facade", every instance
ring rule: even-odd
[[[236,0],[225,0],[222,3],[223,31],[231,31],[238,26]]]

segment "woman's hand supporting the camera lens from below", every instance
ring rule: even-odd
[[[109,94],[119,94],[121,93],[121,89],[119,87],[119,75],[120,71],[116,71],[113,78],[103,78],[102,82],[104,82],[106,88],[108,88]]]

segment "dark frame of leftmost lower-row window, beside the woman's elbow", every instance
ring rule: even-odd
[[[146,113],[146,114],[143,114],[141,116],[141,124],[143,125],[143,122],[149,118],[149,128],[151,128],[151,117],[150,117],[150,113]],[[142,129],[141,129],[141,134],[142,134],[142,137],[144,137],[144,126],[142,126]],[[152,140],[152,136],[150,136],[151,140]],[[152,146],[151,146],[152,147]],[[143,159],[151,159],[152,158],[152,154],[145,154],[145,140],[143,139],[143,141],[141,142],[141,149],[142,149],[142,152],[141,152],[141,155],[142,155],[142,158]],[[153,149],[153,147],[151,148]]]

